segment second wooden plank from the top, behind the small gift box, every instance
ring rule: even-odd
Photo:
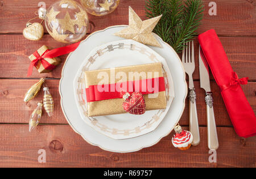
[[[228,55],[233,70],[237,72],[240,78],[249,77],[249,80],[256,80],[256,37],[220,37],[226,54]],[[0,35],[0,78],[26,78],[27,69],[30,65],[30,56],[35,50],[42,45],[48,46],[50,49],[65,46],[65,44],[57,42],[49,35],[45,35],[41,41],[29,41],[24,39],[22,35]],[[199,80],[199,43],[195,41],[195,59],[196,69],[193,77]],[[31,78],[60,78],[61,70],[65,61],[65,56],[61,56],[61,64],[55,70],[48,74],[39,74],[34,68]],[[213,76],[210,76],[213,80]]]

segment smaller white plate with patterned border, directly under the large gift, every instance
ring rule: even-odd
[[[88,117],[84,72],[114,67],[162,63],[166,83],[166,109],[147,110],[143,115],[129,113]],[[151,48],[134,40],[121,40],[97,46],[84,59],[74,80],[74,95],[82,119],[93,129],[113,138],[129,139],[150,133],[162,122],[174,99],[174,83],[166,60]],[[153,95],[148,95],[154,97]]]

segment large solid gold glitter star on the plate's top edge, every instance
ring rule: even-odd
[[[129,27],[114,33],[114,35],[125,39],[132,39],[145,45],[162,47],[156,40],[154,33],[152,33],[161,17],[162,15],[142,21],[133,8],[129,7]]]

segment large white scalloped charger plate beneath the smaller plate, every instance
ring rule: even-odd
[[[59,85],[61,108],[72,129],[80,134],[86,142],[112,152],[134,152],[158,143],[160,139],[170,134],[176,123],[179,122],[185,108],[185,97],[187,96],[185,71],[179,56],[177,56],[175,50],[172,49],[170,45],[160,39],[159,36],[155,35],[163,48],[149,47],[166,59],[174,81],[175,91],[175,98],[172,101],[172,105],[159,126],[154,131],[151,131],[151,133],[136,138],[115,140],[98,133],[82,120],[76,106],[76,100],[73,96],[74,88],[72,84],[76,77],[77,70],[84,61],[84,55],[89,54],[96,46],[103,45],[107,42],[122,40],[120,37],[114,36],[113,34],[126,27],[127,25],[108,27],[102,31],[92,33],[82,41],[75,52],[69,54],[67,57]]]

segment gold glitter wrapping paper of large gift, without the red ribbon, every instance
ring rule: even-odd
[[[114,70],[114,73],[113,73],[113,70]],[[108,74],[106,75],[109,78],[108,84],[131,81],[130,79],[129,80],[121,79],[120,76],[118,77],[117,75],[118,73],[122,73],[122,74],[125,73],[127,77],[129,76],[129,73],[146,74],[146,75],[139,75],[138,77],[139,79],[137,78],[135,80],[163,77],[162,63],[150,63],[146,65],[117,67],[115,69],[85,71],[86,88],[88,88],[89,86],[102,84],[101,83],[102,74]],[[149,94],[149,95],[143,95],[143,96],[146,101],[146,110],[166,108],[166,92],[165,91],[161,91],[161,92]],[[108,115],[108,114],[125,113],[125,110],[123,110],[123,107],[122,107],[123,101],[124,101],[123,99],[109,99],[109,100],[88,102],[88,116],[102,116],[102,115]]]

